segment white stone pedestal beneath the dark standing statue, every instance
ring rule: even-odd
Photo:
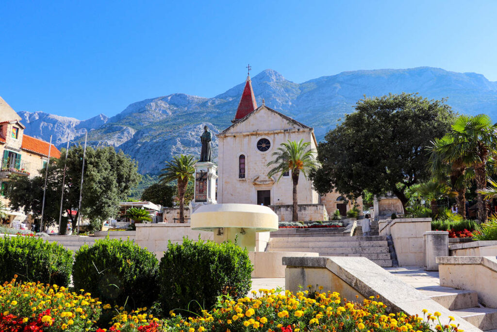
[[[190,202],[191,213],[198,207],[216,202],[217,166],[210,161],[199,161],[195,164],[195,191]]]

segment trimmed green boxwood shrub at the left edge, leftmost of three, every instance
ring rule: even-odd
[[[0,280],[17,280],[68,286],[73,253],[56,242],[35,236],[0,237]]]

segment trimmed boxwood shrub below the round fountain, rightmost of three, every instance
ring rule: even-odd
[[[252,270],[247,250],[232,242],[169,241],[159,266],[163,309],[198,311],[200,305],[209,310],[220,295],[243,298],[252,284]]]

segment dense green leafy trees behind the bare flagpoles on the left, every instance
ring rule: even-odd
[[[48,167],[47,193],[44,211],[44,223],[58,223],[62,193],[64,164],[66,159],[63,149],[59,159],[51,158]],[[68,213],[76,227],[80,213],[89,220],[105,220],[115,217],[119,212],[119,202],[125,201],[132,188],[140,181],[138,166],[122,151],[116,152],[112,147],[86,148],[83,200],[81,211],[75,216],[71,211],[78,210],[80,199],[81,172],[83,166],[83,147],[74,146],[68,151],[66,181],[64,186],[63,211]],[[32,213],[34,218],[41,215],[44,176],[33,179],[14,177],[9,183],[10,206],[14,210],[23,208]],[[64,218],[63,218],[64,219]],[[63,224],[61,227],[65,228]]]

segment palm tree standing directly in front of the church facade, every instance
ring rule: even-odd
[[[279,174],[277,182],[283,174],[290,172],[293,185],[293,221],[298,221],[298,204],[297,204],[297,184],[299,183],[299,175],[302,172],[307,179],[309,171],[319,167],[316,161],[316,151],[309,148],[310,142],[303,142],[301,139],[296,141],[288,141],[281,145],[272,153],[274,160],[267,163],[266,166],[274,167],[267,173],[267,177]]]

